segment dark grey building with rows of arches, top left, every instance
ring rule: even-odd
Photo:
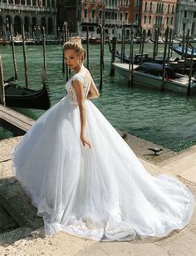
[[[22,34],[24,25],[27,38],[40,38],[45,27],[47,38],[56,36],[56,0],[0,0],[0,38],[10,39]]]

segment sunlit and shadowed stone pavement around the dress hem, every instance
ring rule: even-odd
[[[30,199],[12,175],[10,152],[20,139],[21,137],[16,137],[0,141],[0,206],[6,209],[9,218],[17,223],[13,230],[0,234],[0,255],[196,255],[195,210],[187,227],[174,231],[164,238],[100,243],[76,238],[67,233],[56,233],[53,237],[46,237],[42,228],[42,218],[37,217],[36,208],[32,207]],[[125,140],[149,173],[154,176],[159,173],[174,175],[189,187],[196,198],[196,146],[182,153],[174,153],[164,148],[163,153],[154,156],[148,151],[149,147],[155,146],[153,143],[130,135]]]

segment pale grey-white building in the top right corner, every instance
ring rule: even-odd
[[[196,1],[195,0],[178,0],[175,20],[175,34],[179,37],[183,36],[183,30],[190,35],[196,37]]]

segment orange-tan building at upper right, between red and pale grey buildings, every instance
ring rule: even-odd
[[[167,27],[174,29],[177,0],[143,0],[140,3],[140,27],[144,28],[147,36],[159,28],[164,36]]]

